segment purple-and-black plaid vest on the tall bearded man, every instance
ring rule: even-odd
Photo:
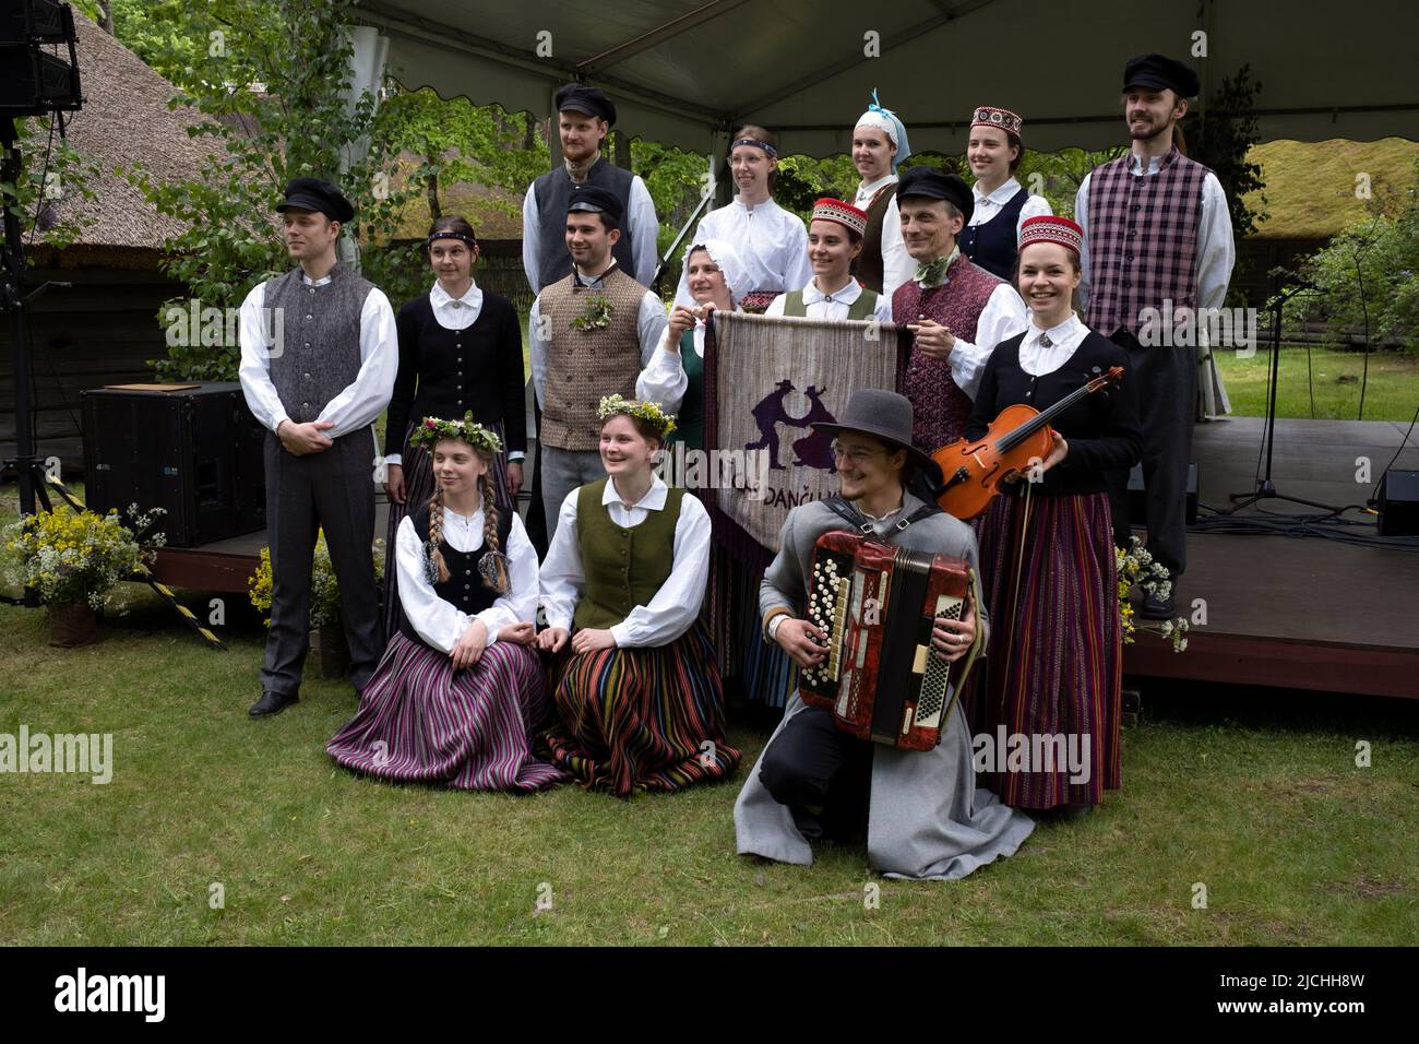
[[[1198,222],[1209,170],[1178,152],[1158,173],[1128,172],[1131,155],[1094,168],[1088,179],[1088,308],[1084,324],[1108,337],[1137,332],[1144,308],[1198,304]]]

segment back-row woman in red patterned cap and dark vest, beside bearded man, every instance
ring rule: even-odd
[[[1032,196],[1015,180],[1025,159],[1025,121],[1010,109],[981,105],[971,115],[966,162],[975,175],[975,209],[961,230],[961,253],[1003,280],[1015,278],[1020,226],[1054,213],[1044,196]]]

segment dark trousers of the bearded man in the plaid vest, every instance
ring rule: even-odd
[[[1127,330],[1118,330],[1108,339],[1128,352],[1128,379],[1138,396],[1148,551],[1176,580],[1188,567],[1188,462],[1198,402],[1196,349],[1145,347]],[[1128,469],[1107,472],[1105,477],[1114,543],[1128,547]]]

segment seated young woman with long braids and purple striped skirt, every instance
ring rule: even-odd
[[[473,413],[426,418],[409,442],[429,452],[436,487],[396,534],[404,622],[359,712],[325,749],[386,780],[517,791],[559,783],[565,774],[532,754],[546,712],[532,648],[538,561],[522,520],[498,510],[502,443]]]

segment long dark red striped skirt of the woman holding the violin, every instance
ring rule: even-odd
[[[992,743],[981,785],[1015,808],[1098,804],[1120,784],[1122,651],[1108,494],[1036,496],[1029,509],[1023,497],[996,497],[981,526],[981,568],[990,649],[968,697],[976,736]],[[1015,734],[1032,760],[998,771],[1006,754],[996,749]]]

